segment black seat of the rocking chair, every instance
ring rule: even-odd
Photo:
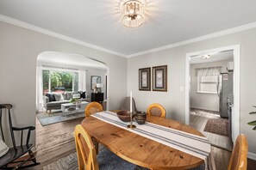
[[[10,148],[9,151],[0,158],[0,167],[7,165],[11,161],[15,161],[22,155],[28,153],[28,150],[32,149],[32,144],[22,145],[14,148]]]

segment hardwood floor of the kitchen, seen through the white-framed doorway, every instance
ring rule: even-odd
[[[220,118],[217,114],[211,114],[206,111],[191,109],[190,112],[190,125],[201,131],[205,137],[209,139],[209,142],[218,148],[232,150],[233,143],[229,137],[224,137],[221,135],[216,135],[214,133],[209,133],[203,131],[205,124],[210,118]]]

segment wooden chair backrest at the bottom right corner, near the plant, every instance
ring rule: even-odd
[[[244,134],[240,134],[235,140],[228,170],[247,170],[247,153],[247,137]]]

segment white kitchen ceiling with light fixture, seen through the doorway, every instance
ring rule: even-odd
[[[204,54],[206,55],[206,54]],[[217,61],[234,60],[234,52],[212,52],[208,54],[210,58],[203,59],[203,55],[190,58],[190,64],[203,64]]]

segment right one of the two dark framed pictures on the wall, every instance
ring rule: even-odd
[[[167,65],[153,67],[153,91],[167,92]]]

